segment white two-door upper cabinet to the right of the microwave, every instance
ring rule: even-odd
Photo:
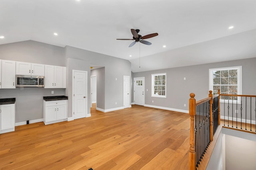
[[[44,88],[66,88],[66,67],[45,65]]]

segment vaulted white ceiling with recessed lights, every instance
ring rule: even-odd
[[[140,72],[256,57],[255,18],[256,0],[0,0],[0,44],[69,45]],[[116,39],[132,39],[131,28],[159,35],[129,48]]]

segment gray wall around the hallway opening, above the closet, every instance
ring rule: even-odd
[[[131,63],[129,61],[70,46],[66,46],[66,58],[88,61],[89,65],[84,68],[85,70],[88,70],[88,73],[90,71],[90,65],[104,66],[104,109],[123,106],[123,76],[131,76]],[[88,88],[90,89],[90,78],[88,79]],[[117,104],[115,104],[115,102],[117,102]],[[90,106],[90,96],[88,96],[88,106]]]

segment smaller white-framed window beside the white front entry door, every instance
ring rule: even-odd
[[[166,73],[152,74],[152,97],[166,98]]]

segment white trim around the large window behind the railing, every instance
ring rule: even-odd
[[[232,66],[232,67],[222,67],[222,68],[210,68],[209,69],[209,89],[213,91],[213,82],[212,82],[212,71],[214,70],[232,70],[232,69],[238,69],[238,77],[237,77],[237,89],[238,94],[242,94],[242,66]],[[221,93],[220,93],[221,94]],[[239,99],[240,97],[238,97]],[[225,100],[225,103],[228,103],[232,100]],[[223,99],[220,99],[221,103],[224,103]],[[238,100],[238,104],[240,104],[240,100]]]

